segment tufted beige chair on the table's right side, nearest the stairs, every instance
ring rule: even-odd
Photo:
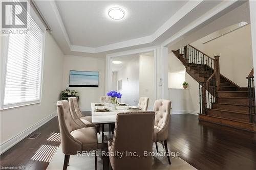
[[[169,100],[156,100],[154,104],[155,115],[155,126],[154,126],[154,137],[153,141],[156,144],[156,149],[158,152],[157,142],[164,141],[164,148],[166,153],[168,153],[167,148],[167,137],[168,137],[168,128],[169,128],[169,119],[170,119],[170,105],[172,104]],[[169,164],[170,158],[167,155]]]

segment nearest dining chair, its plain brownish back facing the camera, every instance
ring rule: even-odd
[[[154,118],[153,111],[117,114],[114,137],[108,141],[108,149],[111,153],[124,154],[122,157],[110,156],[114,170],[151,169],[152,157],[144,156],[144,152],[152,152]],[[137,124],[134,124],[135,122]],[[140,157],[126,154],[135,152]]]

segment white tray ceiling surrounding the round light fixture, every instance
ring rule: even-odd
[[[106,54],[184,39],[242,1],[35,1],[66,55]],[[108,9],[121,7],[122,20]],[[211,32],[209,32],[211,33]]]

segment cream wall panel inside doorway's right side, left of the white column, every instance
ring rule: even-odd
[[[140,55],[139,62],[139,96],[150,98],[148,110],[152,110],[155,102],[154,56]]]

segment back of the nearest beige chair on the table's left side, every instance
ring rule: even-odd
[[[72,118],[68,101],[57,102],[57,113],[62,152],[67,155],[77,154],[77,151],[81,150],[81,142],[76,140],[70,132],[83,127],[76,124],[75,120]]]

